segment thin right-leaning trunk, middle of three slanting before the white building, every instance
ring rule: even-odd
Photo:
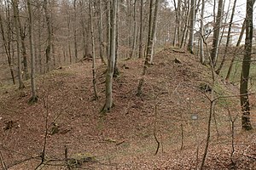
[[[232,8],[232,14],[230,16],[229,31],[228,31],[228,36],[227,36],[227,42],[226,42],[225,49],[224,49],[224,57],[218,67],[218,70],[216,71],[217,74],[219,74],[219,72],[221,71],[221,69],[224,65],[224,62],[226,60],[226,55],[227,55],[228,48],[230,45],[230,32],[231,32],[231,27],[232,27],[232,23],[233,23],[234,14],[235,14],[235,9],[236,9],[236,0],[234,1],[233,8]]]

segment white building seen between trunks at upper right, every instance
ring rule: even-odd
[[[204,37],[206,38],[207,42],[212,42],[213,39],[213,22],[208,22],[204,29],[205,29],[205,35]],[[220,30],[220,37],[221,42],[220,45],[225,45],[227,42],[227,37],[228,37],[228,31],[229,31],[229,25],[228,24],[223,24]],[[236,46],[236,42],[239,39],[241,33],[241,26],[237,24],[233,24],[231,26],[231,31],[230,31],[230,46]],[[241,39],[241,45],[245,43],[245,37],[246,37],[246,32],[244,32],[242,39]],[[195,43],[199,42],[199,39],[201,38],[201,34],[199,32],[195,33]]]

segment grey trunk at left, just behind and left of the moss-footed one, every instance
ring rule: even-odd
[[[17,0],[13,0],[13,10],[15,17],[15,31],[16,31],[16,45],[17,45],[17,58],[18,58],[18,77],[19,77],[19,89],[25,88],[23,80],[22,80],[22,71],[21,71],[21,59],[20,59],[20,30],[18,23],[18,2]]]

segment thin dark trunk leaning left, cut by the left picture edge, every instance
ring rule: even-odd
[[[11,59],[11,54],[10,54],[10,49],[8,48],[8,42],[6,41],[5,38],[5,32],[3,29],[3,19],[2,19],[2,15],[0,14],[0,27],[1,27],[1,34],[2,34],[2,39],[3,39],[3,47],[7,56],[7,60],[8,60],[8,65],[9,65],[9,71],[13,80],[13,83],[15,84],[15,73],[13,70],[13,63],[12,63],[12,59]]]

